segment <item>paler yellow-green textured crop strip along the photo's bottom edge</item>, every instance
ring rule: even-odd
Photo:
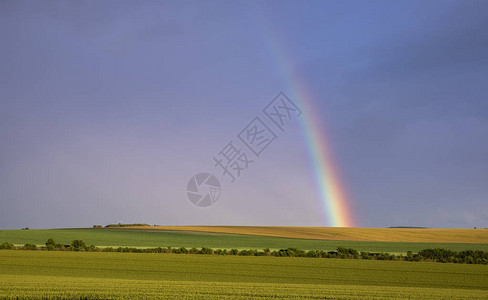
[[[0,275],[0,297],[29,299],[486,299],[488,291],[358,285],[156,281]]]

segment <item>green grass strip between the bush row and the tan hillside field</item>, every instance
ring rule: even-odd
[[[83,239],[88,245],[128,247],[211,247],[237,249],[284,249],[335,250],[337,246],[359,251],[406,253],[426,248],[446,248],[454,251],[467,249],[488,251],[488,244],[473,243],[415,243],[415,242],[370,242],[370,241],[328,241],[294,239],[241,234],[206,233],[193,231],[165,231],[141,229],[36,229],[0,230],[0,243],[11,242],[44,245],[48,238],[62,244],[74,239]]]

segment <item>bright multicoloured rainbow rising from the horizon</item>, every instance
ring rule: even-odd
[[[323,205],[325,226],[354,227],[352,208],[344,184],[340,179],[326,131],[316,113],[318,109],[314,107],[314,97],[309,92],[310,89],[307,88],[306,83],[294,71],[291,60],[281,51],[283,48],[279,47],[276,40],[271,40],[271,42],[277,65],[284,74],[287,86],[290,87],[290,99],[296,101],[302,110],[302,116],[299,118],[301,132],[307,144],[317,194]]]

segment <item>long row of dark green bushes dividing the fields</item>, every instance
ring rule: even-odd
[[[79,239],[73,240],[69,245],[56,243],[52,238],[48,239],[46,246],[38,247],[33,244],[25,244],[17,247],[11,243],[0,244],[0,249],[9,250],[48,250],[48,251],[89,251],[89,252],[130,252],[130,253],[175,253],[175,254],[207,254],[207,255],[242,255],[242,256],[277,256],[277,257],[316,257],[316,258],[350,258],[350,259],[370,259],[370,260],[405,260],[405,261],[435,261],[443,263],[468,263],[468,264],[488,264],[488,252],[482,250],[451,251],[446,249],[434,248],[424,249],[418,253],[408,251],[404,256],[394,255],[385,252],[358,252],[352,248],[338,247],[336,251],[323,250],[300,250],[297,248],[287,248],[271,251],[269,248],[262,251],[255,249],[212,249],[202,248],[134,248],[134,247],[104,247],[99,248],[94,245],[86,245]]]

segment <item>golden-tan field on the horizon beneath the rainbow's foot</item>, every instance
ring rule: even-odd
[[[150,226],[125,228],[234,233],[259,236],[340,241],[488,243],[488,229],[342,228],[280,226]]]

